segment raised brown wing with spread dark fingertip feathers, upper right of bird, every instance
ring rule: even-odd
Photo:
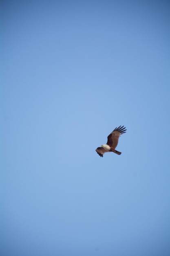
[[[119,126],[118,128],[116,127],[115,130],[113,130],[113,132],[111,132],[110,135],[108,135],[107,144],[115,149],[117,147],[120,135],[125,132],[126,132],[126,127],[124,126]]]

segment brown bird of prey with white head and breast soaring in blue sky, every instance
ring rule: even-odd
[[[99,156],[103,157],[105,152],[114,152],[117,155],[120,155],[121,152],[115,150],[118,144],[118,140],[121,134],[126,132],[126,127],[124,126],[119,126],[118,128],[116,127],[113,132],[108,135],[108,141],[107,144],[102,145],[99,148],[96,148],[96,152]]]

